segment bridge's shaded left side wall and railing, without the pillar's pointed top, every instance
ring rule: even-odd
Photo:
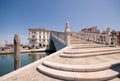
[[[56,50],[60,50],[70,44],[70,36],[65,32],[51,31],[50,32],[50,40],[54,42],[54,46]],[[51,42],[49,44],[49,49],[51,46]]]

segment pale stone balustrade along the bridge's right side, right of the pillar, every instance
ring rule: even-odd
[[[112,43],[116,43],[115,39],[114,42],[112,42],[113,36],[111,34],[101,34],[101,33],[85,33],[85,32],[74,32],[72,33],[72,36],[76,38],[80,38],[86,41],[100,43],[100,44],[106,44],[106,45],[112,45]]]

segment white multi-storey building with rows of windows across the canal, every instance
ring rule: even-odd
[[[50,31],[44,28],[29,29],[29,46],[34,48],[46,47],[49,43]]]

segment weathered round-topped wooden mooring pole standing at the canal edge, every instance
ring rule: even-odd
[[[14,36],[14,70],[20,67],[20,38],[19,35]]]

